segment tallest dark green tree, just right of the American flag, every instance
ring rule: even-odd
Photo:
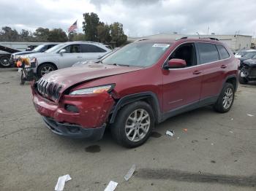
[[[97,26],[99,25],[99,17],[96,13],[86,12],[83,14],[83,31],[86,34],[86,40],[98,41]]]

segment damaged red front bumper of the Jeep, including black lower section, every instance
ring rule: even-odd
[[[115,101],[109,93],[97,95],[63,95],[50,101],[31,85],[34,107],[45,125],[60,136],[101,139]]]

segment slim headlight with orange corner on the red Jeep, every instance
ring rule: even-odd
[[[115,85],[102,85],[97,87],[89,87],[80,90],[74,90],[69,95],[84,95],[84,94],[94,94],[94,93],[103,93],[103,92],[110,92],[113,90]]]

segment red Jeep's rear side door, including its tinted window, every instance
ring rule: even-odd
[[[222,88],[225,63],[220,61],[217,44],[197,42],[195,45],[199,56],[200,71],[203,74],[200,100],[217,98]]]

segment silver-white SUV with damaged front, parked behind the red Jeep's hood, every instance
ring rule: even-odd
[[[64,69],[78,61],[95,60],[110,52],[108,45],[99,42],[65,42],[42,53],[28,55],[38,77],[56,69]]]

